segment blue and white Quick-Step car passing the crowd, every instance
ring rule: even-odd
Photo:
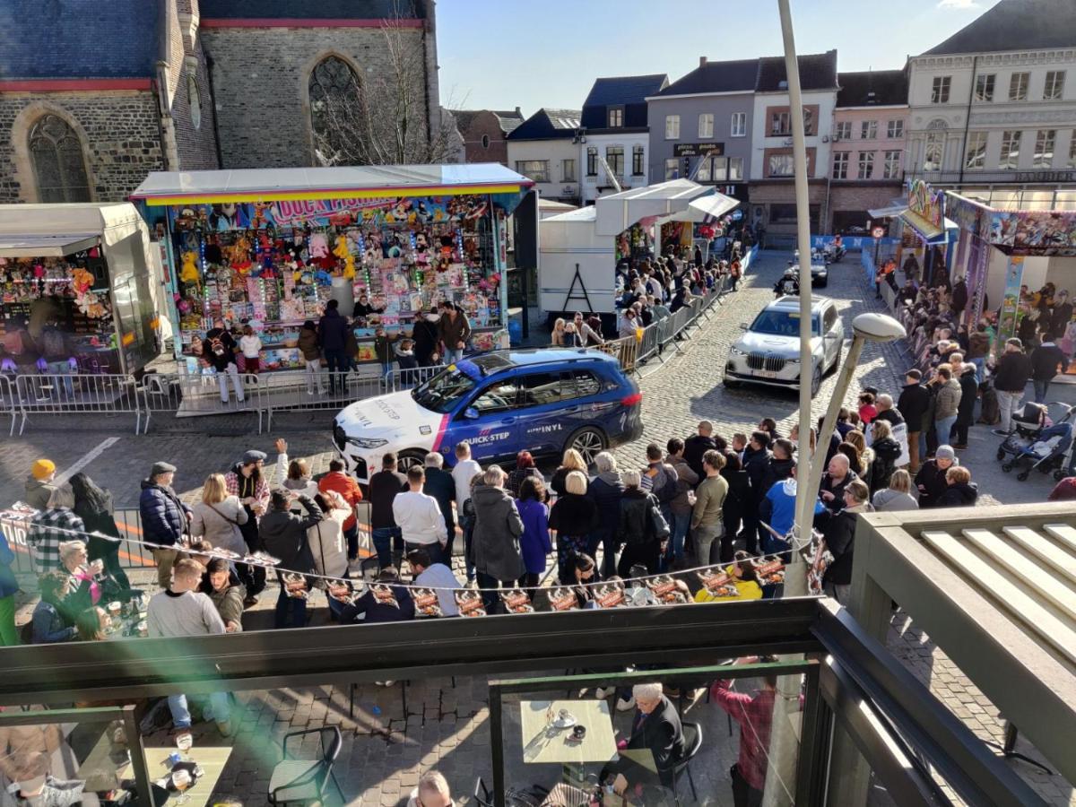
[[[560,456],[599,451],[642,434],[639,386],[596,350],[483,353],[450,365],[407,392],[356,401],[336,416],[334,443],[360,482],[395,452],[406,469],[430,451],[455,464],[466,440],[482,465],[513,463],[524,449]]]

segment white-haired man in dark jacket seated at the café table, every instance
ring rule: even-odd
[[[632,736],[617,744],[620,750],[649,751],[657,768],[657,779],[672,787],[672,770],[686,751],[683,726],[676,707],[662,694],[660,683],[637,683],[632,688],[637,713],[632,721]],[[601,769],[600,782],[610,778],[613,791],[623,795],[629,787],[641,785],[653,775],[639,763],[621,754]]]

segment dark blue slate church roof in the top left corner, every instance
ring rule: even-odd
[[[150,77],[158,8],[146,0],[0,0],[0,81]]]

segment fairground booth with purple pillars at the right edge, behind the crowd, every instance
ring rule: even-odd
[[[1032,209],[988,207],[952,192],[946,194],[948,214],[960,227],[953,275],[967,280],[968,325],[996,317],[996,344],[1027,331],[1040,330],[1047,322],[1066,355],[1076,354],[1076,212],[1042,209],[1044,199],[1024,198]],[[1042,299],[1044,288],[1053,296]],[[1021,289],[1025,289],[1021,294]],[[1062,293],[1065,293],[1062,297]],[[1076,363],[1074,363],[1076,364]],[[1076,372],[1076,367],[1070,368]]]

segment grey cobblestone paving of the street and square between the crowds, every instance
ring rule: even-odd
[[[721,385],[722,367],[728,345],[740,334],[739,323],[750,321],[773,299],[771,284],[783,269],[785,253],[762,253],[755,273],[741,291],[726,298],[681,351],[664,366],[650,365],[641,381],[643,392],[643,438],[621,447],[615,454],[625,467],[642,465],[648,442],[664,445],[674,435],[686,436],[698,420],[709,419],[724,435],[749,433],[763,416],[775,417],[785,434],[794,422],[797,398],[793,392]],[[834,298],[846,328],[854,315],[880,310],[862,280],[854,256],[831,271],[830,286],[817,289]],[[846,396],[852,402],[863,385],[894,393],[906,367],[906,357],[897,344],[868,344],[859,364],[855,382]],[[835,380],[825,380],[815,400],[815,416],[823,411]],[[1076,386],[1054,385],[1051,400],[1076,402]],[[137,507],[138,480],[156,459],[179,466],[176,490],[190,500],[197,497],[201,480],[212,471],[226,468],[247,448],[266,450],[272,458],[272,441],[284,436],[293,456],[306,456],[315,473],[327,470],[331,445],[327,431],[316,423],[327,422],[329,413],[281,417],[272,435],[229,434],[212,423],[198,424],[200,434],[151,434],[136,437],[132,416],[121,415],[114,423],[65,423],[62,427],[41,421],[32,423],[25,437],[0,441],[0,502],[16,500],[30,463],[48,456],[61,469],[87,454],[99,455],[86,465],[98,482],[109,486],[118,507]],[[241,422],[239,428],[252,425]],[[236,431],[236,429],[231,429]],[[961,453],[962,463],[972,468],[978,482],[981,504],[1015,504],[1046,498],[1052,479],[1034,473],[1023,483],[1003,473],[994,458],[999,438],[985,426],[972,429],[969,448]],[[139,572],[145,575],[146,572]],[[264,597],[259,608],[268,607]],[[258,614],[259,617],[268,614]],[[931,691],[972,730],[985,739],[1001,741],[1003,722],[994,708],[948,657],[908,620],[897,613],[893,620],[890,649],[909,669],[930,685]],[[271,766],[279,760],[279,738],[286,732],[338,723],[344,730],[345,746],[341,755],[341,783],[353,804],[396,805],[406,799],[421,769],[437,764],[450,778],[457,794],[470,793],[475,777],[490,781],[487,694],[484,680],[458,679],[451,682],[427,679],[408,689],[408,713],[402,713],[399,684],[395,688],[365,685],[356,693],[356,719],[348,717],[348,693],[340,690],[269,691],[240,693],[242,719],[233,739],[235,752],[217,789],[217,795],[240,795],[246,804],[261,804]],[[708,737],[706,759],[693,766],[699,794],[712,804],[731,804],[727,769],[735,756],[736,737],[730,738],[725,721],[717,709],[699,703],[697,710]],[[694,714],[693,714],[694,719]],[[506,735],[507,736],[507,735]],[[211,730],[202,739],[220,745]],[[712,745],[711,745],[712,742]],[[1018,750],[1036,755],[1021,741]],[[1015,768],[1053,805],[1076,805],[1072,785],[1058,776],[1047,776],[1031,766],[1015,762]],[[524,781],[539,781],[527,766]]]

